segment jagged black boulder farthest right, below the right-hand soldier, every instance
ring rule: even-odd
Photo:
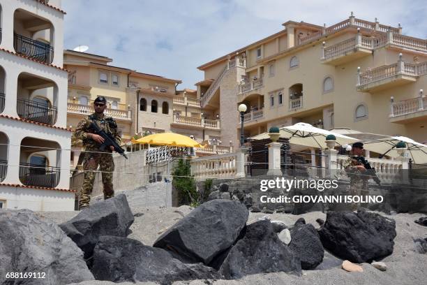
[[[396,222],[371,212],[327,212],[319,231],[326,249],[336,256],[364,263],[393,252]]]

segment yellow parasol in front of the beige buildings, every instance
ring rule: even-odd
[[[154,133],[153,135],[144,136],[135,140],[142,145],[169,145],[171,147],[203,147],[188,136],[179,135],[178,133]]]

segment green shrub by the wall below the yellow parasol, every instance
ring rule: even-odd
[[[179,205],[197,207],[199,193],[197,193],[194,177],[191,176],[190,161],[179,159],[172,171],[172,186],[178,191]]]

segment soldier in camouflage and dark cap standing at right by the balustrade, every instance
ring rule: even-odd
[[[345,172],[350,178],[350,195],[360,196],[366,195],[368,192],[368,179],[366,175],[366,168],[363,164],[359,163],[353,156],[362,156],[364,153],[364,144],[362,142],[354,142],[352,145],[352,156],[350,156],[344,163],[343,167]],[[352,203],[352,211],[357,210],[357,203]]]

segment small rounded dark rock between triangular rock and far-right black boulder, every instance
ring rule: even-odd
[[[296,224],[290,228],[290,233],[292,239],[289,247],[301,260],[302,269],[314,269],[322,263],[324,249],[312,224]]]

